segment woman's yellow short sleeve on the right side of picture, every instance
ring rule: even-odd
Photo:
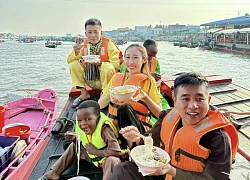
[[[150,78],[148,81],[146,81],[142,90],[146,92],[156,104],[161,104],[160,95],[154,78]]]

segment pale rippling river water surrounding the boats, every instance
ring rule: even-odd
[[[44,42],[0,43],[0,104],[6,103],[10,91],[51,88],[58,93],[58,110],[61,111],[71,88],[66,59],[73,45],[63,42],[54,49],[46,48]],[[127,46],[119,47],[124,52]],[[188,71],[213,73],[231,77],[235,84],[250,88],[250,56],[179,48],[168,42],[158,42],[158,49],[164,76]],[[232,179],[245,179],[244,174],[250,170],[242,170],[242,165],[250,167],[250,163],[239,160],[235,166],[238,172]]]

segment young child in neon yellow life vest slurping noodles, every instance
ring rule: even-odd
[[[75,133],[66,132],[65,139],[72,140],[63,155],[52,166],[51,171],[42,179],[59,179],[60,175],[77,161],[76,134],[81,141],[80,159],[96,167],[102,167],[103,180],[110,180],[115,165],[122,155],[117,137],[118,132],[112,121],[100,112],[96,101],[86,100],[77,108]]]

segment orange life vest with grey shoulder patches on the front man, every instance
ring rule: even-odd
[[[233,124],[218,111],[208,111],[207,117],[199,123],[182,127],[176,132],[180,122],[180,115],[176,109],[171,110],[163,119],[161,126],[161,139],[165,151],[169,153],[171,165],[193,172],[202,172],[210,150],[199,144],[201,137],[215,129],[223,129],[229,135],[232,159],[238,149],[238,134]],[[167,180],[172,176],[167,175]]]

